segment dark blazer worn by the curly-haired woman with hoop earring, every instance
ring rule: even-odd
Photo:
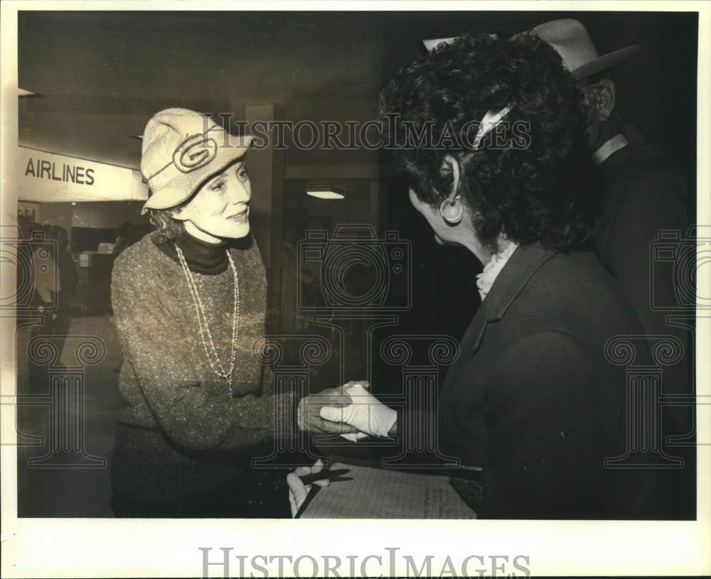
[[[603,461],[624,454],[626,432],[625,367],[606,359],[605,345],[640,332],[592,253],[514,251],[461,340],[440,402],[444,452],[483,467],[483,499],[471,505],[479,517],[638,516],[648,477]]]

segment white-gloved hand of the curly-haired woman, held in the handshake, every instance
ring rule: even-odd
[[[386,437],[390,428],[397,421],[397,412],[388,408],[380,400],[370,394],[363,384],[356,382],[345,389],[353,401],[348,406],[324,406],[321,408],[321,418],[331,422],[342,422],[358,428],[355,435],[342,434],[348,440],[360,440],[363,433],[370,436]]]

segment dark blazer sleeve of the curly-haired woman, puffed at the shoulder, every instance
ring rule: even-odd
[[[482,518],[570,518],[599,492],[594,358],[562,331],[510,344],[491,369]]]

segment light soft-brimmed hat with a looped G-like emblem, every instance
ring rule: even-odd
[[[142,212],[180,205],[205,180],[243,156],[251,141],[251,135],[231,135],[188,109],[154,114],[143,133],[141,173],[151,196]]]

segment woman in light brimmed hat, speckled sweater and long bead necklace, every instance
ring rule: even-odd
[[[252,353],[266,277],[250,235],[250,138],[235,139],[186,109],[159,112],[144,131],[144,212],[156,229],[112,274],[129,404],[113,458],[117,516],[283,514],[249,462],[292,396],[262,392]]]

